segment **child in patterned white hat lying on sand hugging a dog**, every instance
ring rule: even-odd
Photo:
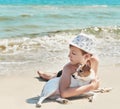
[[[80,34],[69,43],[69,49],[70,62],[58,74],[50,75],[38,71],[39,76],[46,80],[61,76],[59,91],[63,98],[77,96],[99,87],[97,78],[98,59],[93,55],[95,53],[94,39],[86,34]],[[71,88],[69,87],[71,75],[74,75],[79,65],[89,66],[95,72],[96,79],[85,86]]]

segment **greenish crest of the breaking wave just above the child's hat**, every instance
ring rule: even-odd
[[[53,34],[80,34],[81,32],[84,32],[86,34],[93,34],[97,38],[105,38],[105,37],[112,37],[114,39],[120,39],[120,27],[119,26],[112,26],[112,27],[88,27],[83,29],[68,29],[68,30],[58,30],[58,31],[52,31],[47,32],[49,35]]]

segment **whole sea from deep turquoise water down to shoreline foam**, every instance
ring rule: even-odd
[[[62,64],[80,33],[94,35],[96,54],[119,64],[120,0],[0,0],[0,75],[32,63]]]

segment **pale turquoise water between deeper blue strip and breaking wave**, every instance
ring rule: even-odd
[[[120,6],[0,5],[0,37],[120,26]]]

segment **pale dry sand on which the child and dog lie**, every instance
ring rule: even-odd
[[[54,100],[46,100],[41,109],[114,109],[120,108],[120,64],[110,63],[110,58],[103,58],[104,61],[99,65],[99,77],[101,79],[100,87],[112,87],[109,93],[99,93],[92,103],[87,99],[70,99],[68,104],[60,104]],[[39,66],[42,65],[42,66]],[[50,66],[40,63],[39,65],[27,65],[19,67],[17,74],[0,76],[0,108],[1,109],[35,109],[37,96],[42,90],[45,81],[38,78],[36,71],[38,69],[51,69]],[[34,66],[34,67],[31,67]],[[44,69],[45,70],[45,69]],[[51,71],[56,71],[56,66]],[[13,70],[9,70],[12,72]],[[22,73],[21,73],[22,72]]]

